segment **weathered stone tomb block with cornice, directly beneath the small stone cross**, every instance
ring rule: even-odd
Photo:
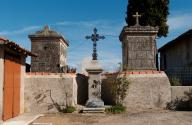
[[[122,41],[123,70],[156,70],[156,35],[158,27],[125,26]]]

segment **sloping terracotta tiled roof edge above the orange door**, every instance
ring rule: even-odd
[[[9,41],[8,39],[6,38],[2,38],[0,37],[0,45],[5,45],[6,47],[14,50],[14,51],[17,51],[19,53],[22,53],[24,55],[28,55],[28,56],[37,56],[36,54],[20,47],[18,44],[16,44],[15,42],[13,41]]]

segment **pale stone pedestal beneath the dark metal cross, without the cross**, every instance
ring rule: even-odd
[[[89,74],[88,101],[85,112],[103,112],[104,102],[101,99],[101,73],[102,68],[97,60],[92,60],[90,66],[86,69]],[[99,109],[99,110],[98,110]]]

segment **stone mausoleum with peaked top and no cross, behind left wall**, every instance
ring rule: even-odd
[[[66,72],[68,41],[49,26],[35,34],[29,35],[31,51],[37,57],[31,59],[32,72]]]

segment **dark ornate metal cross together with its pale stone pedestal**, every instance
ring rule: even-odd
[[[97,34],[97,29],[94,28],[93,34],[91,36],[86,36],[85,38],[93,41],[93,59],[86,68],[89,75],[88,100],[85,104],[86,107],[83,109],[83,112],[104,112],[104,102],[101,99],[101,73],[103,72],[103,69],[97,60],[96,47],[97,41],[104,39],[105,37]]]

